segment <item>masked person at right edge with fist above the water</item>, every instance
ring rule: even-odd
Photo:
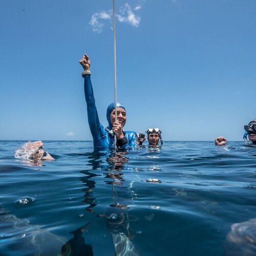
[[[247,125],[244,125],[244,141],[247,144],[253,144],[256,145],[256,119],[251,120]],[[215,139],[215,145],[221,146],[225,145],[227,143],[226,138],[223,136],[217,137]]]

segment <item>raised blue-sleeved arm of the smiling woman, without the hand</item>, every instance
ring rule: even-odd
[[[93,140],[100,137],[99,116],[95,105],[91,75],[84,75],[84,95],[86,96],[88,123]]]

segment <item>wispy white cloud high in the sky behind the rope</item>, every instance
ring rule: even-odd
[[[120,9],[119,13],[116,14],[116,17],[119,22],[127,23],[133,27],[138,27],[140,24],[140,17],[135,14],[136,11],[139,11],[141,6],[137,5],[135,8],[131,8],[129,4],[124,4]],[[99,13],[94,13],[89,24],[92,26],[93,31],[101,33],[104,27],[104,20],[109,20],[112,22],[112,10],[102,11]]]

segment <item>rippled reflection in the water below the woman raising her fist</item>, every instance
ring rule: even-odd
[[[90,204],[86,210],[94,214],[95,210],[92,208],[97,205],[95,203],[97,200],[94,191],[96,189],[96,182],[93,179],[98,175],[94,174],[93,171],[97,170],[99,172],[99,170],[103,170],[104,178],[109,180],[105,181],[105,183],[110,185],[108,187],[112,190],[110,199],[111,201],[113,200],[113,204],[110,204],[110,207],[105,212],[99,212],[97,216],[104,217],[106,221],[106,227],[111,234],[116,255],[140,255],[131,241],[132,230],[129,227],[129,211],[127,210],[131,199],[118,197],[119,193],[115,189],[115,186],[117,186],[120,194],[130,194],[130,190],[127,191],[122,186],[124,179],[121,170],[125,168],[125,163],[129,161],[127,155],[127,152],[111,153],[109,156],[106,156],[106,153],[97,151],[89,153],[89,164],[92,165],[92,170],[83,170],[81,173],[86,174],[86,176],[80,178],[80,180],[87,186],[87,188],[83,189],[83,191],[86,191],[84,202]],[[103,159],[106,159],[107,166]]]

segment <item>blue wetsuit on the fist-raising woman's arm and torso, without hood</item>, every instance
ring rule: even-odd
[[[84,95],[86,96],[87,114],[90,131],[93,136],[93,145],[95,148],[111,148],[114,147],[115,139],[107,132],[104,126],[100,123],[98,112],[95,105],[91,75],[84,75]],[[111,130],[112,127],[108,126]],[[136,146],[137,134],[135,132],[124,132],[127,143],[121,148],[128,146]]]

